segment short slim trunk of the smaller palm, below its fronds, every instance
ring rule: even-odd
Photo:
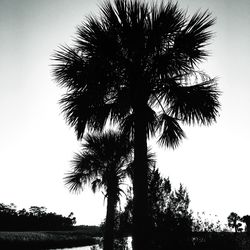
[[[109,192],[109,190],[108,190]],[[114,221],[115,221],[115,207],[116,197],[112,193],[107,192],[107,212],[106,223],[104,229],[103,250],[113,250],[114,248]]]

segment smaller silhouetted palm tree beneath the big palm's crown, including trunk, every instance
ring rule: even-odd
[[[104,250],[113,249],[114,220],[121,185],[127,175],[132,153],[131,143],[119,133],[88,134],[82,152],[72,161],[73,169],[65,177],[70,191],[78,192],[90,184],[92,190],[103,188],[107,198]]]

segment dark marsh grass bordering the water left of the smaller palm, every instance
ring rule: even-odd
[[[0,232],[0,249],[48,249],[98,243],[82,231]]]

